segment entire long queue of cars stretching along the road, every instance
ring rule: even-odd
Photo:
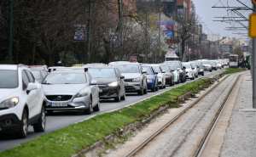
[[[27,127],[44,132],[46,112],[100,110],[100,100],[125,100],[126,93],[147,94],[204,76],[224,67],[221,60],[140,64],[115,61],[74,67],[0,65],[0,133],[26,137]]]

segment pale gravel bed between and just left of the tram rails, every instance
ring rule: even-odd
[[[208,94],[207,98],[201,101],[200,104],[189,109],[181,120],[175,122],[172,127],[168,127],[162,132],[159,137],[151,142],[153,144],[148,143],[137,156],[192,156],[195,154],[195,148],[201,142],[201,135],[206,132],[206,128],[211,124],[209,120],[212,120],[215,111],[218,110],[226,94],[229,92],[228,89],[235,81],[235,76],[237,74],[227,78],[221,86],[218,86]],[[189,103],[191,101],[186,101],[180,109]],[[136,144],[141,143],[145,137],[148,137],[153,132],[147,133],[149,130],[155,130],[155,128],[162,126],[165,123],[163,121],[172,119],[172,116],[177,112],[178,109],[168,109],[165,115],[152,121],[148,126],[137,132],[134,137],[131,137],[130,140],[116,146],[114,150],[109,150],[106,154],[102,154],[102,156],[124,156]]]

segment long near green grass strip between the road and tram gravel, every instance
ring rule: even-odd
[[[209,79],[190,82],[161,95],[148,98],[139,104],[96,115],[89,120],[50,132],[32,141],[22,143],[13,149],[5,150],[0,153],[0,156],[72,156],[135,121],[143,121],[160,106],[169,104],[171,107],[177,107],[178,97],[189,91],[196,92],[197,87],[201,85],[208,86],[209,84]]]

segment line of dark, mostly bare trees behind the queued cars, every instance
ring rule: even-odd
[[[0,64],[6,64],[9,0],[0,0],[0,2]],[[113,39],[110,34],[120,35],[121,26],[123,60],[129,59],[133,54],[145,52],[148,52],[148,58],[158,55],[158,46],[151,44],[151,38],[158,37],[159,32],[158,3],[151,3],[148,8],[144,0],[124,0],[123,8],[121,8],[121,0],[91,0],[90,6],[89,3],[90,0],[13,0],[12,64],[52,66],[60,58],[67,66],[86,64],[88,45],[86,41],[73,40],[73,25],[85,24],[87,29],[89,7],[91,10],[90,63],[109,63],[119,60],[121,45],[111,44]],[[145,10],[148,17],[147,25]],[[121,20],[123,20],[122,25]],[[170,20],[177,21],[177,15],[173,15]],[[196,20],[189,20],[185,24],[180,22],[180,24],[183,26],[180,26],[180,30],[176,33],[185,45],[193,29],[195,32],[195,26],[192,25],[196,25]],[[164,52],[163,48],[172,47],[166,44],[164,37],[161,37],[160,43],[161,52]]]

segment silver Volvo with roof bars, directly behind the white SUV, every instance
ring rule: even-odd
[[[90,115],[100,110],[100,89],[87,70],[54,70],[45,77],[42,84],[49,113],[83,110]]]

